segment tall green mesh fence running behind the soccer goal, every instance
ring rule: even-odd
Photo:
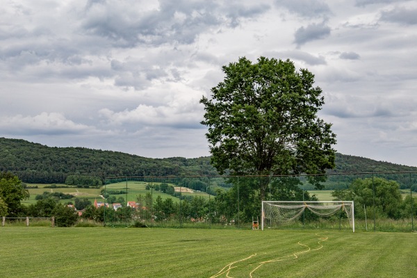
[[[254,229],[262,201],[354,202],[356,231],[414,231],[417,173],[270,177],[114,177],[106,179],[106,226]],[[291,225],[270,229],[352,230],[347,213],[297,211]],[[270,220],[272,221],[272,220]]]

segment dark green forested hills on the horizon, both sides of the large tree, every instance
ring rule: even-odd
[[[161,177],[216,176],[210,157],[145,158],[83,147],[47,147],[21,139],[0,138],[0,171],[26,183],[65,183],[68,176]],[[336,154],[329,173],[417,172],[417,167]]]

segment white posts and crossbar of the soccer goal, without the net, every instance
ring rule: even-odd
[[[286,204],[299,204],[299,208],[301,213],[304,211],[305,208],[309,208],[309,205],[311,204],[311,206],[314,206],[314,204],[340,204],[340,208],[336,208],[336,211],[334,211],[333,213],[329,213],[327,215],[332,215],[334,213],[336,213],[337,211],[343,210],[346,212],[344,205],[348,204],[349,206],[352,207],[352,215],[350,219],[350,226],[353,229],[354,232],[354,202],[353,201],[262,201],[262,211],[261,211],[261,229],[263,231],[263,227],[264,227],[264,223],[265,223],[265,210],[264,210],[264,206],[268,205],[268,204],[272,204],[272,206],[278,206],[278,204],[282,204],[282,206],[284,207]],[[304,206],[304,207],[303,207]],[[310,211],[311,208],[309,208]],[[300,213],[300,215],[301,215]],[[349,217],[349,215],[347,215]]]

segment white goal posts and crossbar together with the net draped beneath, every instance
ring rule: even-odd
[[[354,232],[353,201],[262,201],[261,229],[264,229],[266,218],[279,226],[299,219],[306,209],[319,218],[328,218],[343,211]]]

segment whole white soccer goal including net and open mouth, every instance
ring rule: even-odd
[[[261,229],[297,228],[352,229],[353,201],[262,201]]]

